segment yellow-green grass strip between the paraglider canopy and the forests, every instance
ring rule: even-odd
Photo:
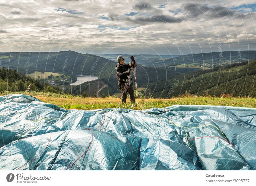
[[[19,92],[25,94],[24,92]],[[1,94],[6,95],[11,92],[4,92]],[[54,93],[40,93],[32,92],[27,95],[32,95],[39,100],[47,103],[58,105],[61,108],[66,109],[100,109],[100,108],[132,108],[132,109],[147,109],[147,108],[163,108],[172,105],[222,105],[222,106],[236,106],[236,107],[248,107],[256,108],[256,98],[244,98],[244,97],[193,97],[188,96],[184,98],[172,98],[172,99],[139,99],[137,104],[130,104],[129,97],[127,96],[127,103],[123,105],[120,98],[106,97],[106,98],[83,98],[82,96],[61,95]]]

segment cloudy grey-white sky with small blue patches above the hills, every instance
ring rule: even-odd
[[[255,0],[1,0],[0,52],[256,50]]]

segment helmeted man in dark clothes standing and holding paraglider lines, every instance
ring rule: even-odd
[[[133,64],[124,64],[124,57],[117,57],[118,63],[116,64],[116,76],[118,78],[119,90],[122,91],[122,103],[126,102],[126,93],[129,92],[131,103],[135,103],[134,92],[132,88],[132,68],[136,67],[134,56],[131,57]]]

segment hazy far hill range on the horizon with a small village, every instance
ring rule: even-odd
[[[104,54],[102,57],[116,61],[120,54]],[[121,54],[126,62],[130,61],[128,54]],[[184,68],[184,65],[195,68],[212,68],[229,63],[239,63],[243,61],[256,59],[256,51],[224,51],[224,52],[209,52],[188,55],[135,55],[136,60],[141,65],[152,67],[174,67]],[[239,59],[240,58],[240,59]],[[190,64],[190,65],[189,65]],[[183,66],[181,66],[183,65]]]

